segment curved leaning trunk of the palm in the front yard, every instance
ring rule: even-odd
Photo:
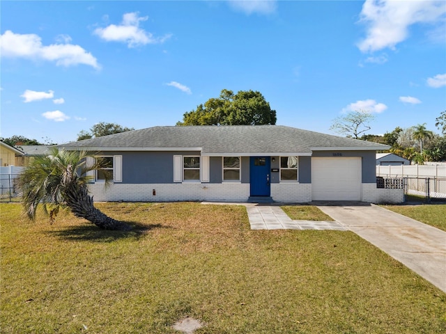
[[[116,221],[102,213],[99,209],[96,209],[93,205],[93,198],[89,196],[88,190],[84,185],[70,184],[64,193],[64,198],[75,216],[85,218],[98,226],[98,228],[119,231],[132,229],[130,225],[122,221]]]

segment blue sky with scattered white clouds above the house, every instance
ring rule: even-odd
[[[446,1],[1,1],[2,137],[75,141],[98,122],[175,125],[222,89],[277,124],[369,134],[446,110]]]

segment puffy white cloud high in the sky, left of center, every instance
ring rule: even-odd
[[[154,38],[151,33],[139,28],[139,22],[146,21],[145,17],[138,17],[138,13],[125,13],[120,25],[110,24],[105,28],[97,28],[94,33],[107,42],[125,42],[128,47],[138,45],[162,43],[171,35],[164,35],[161,38]]]

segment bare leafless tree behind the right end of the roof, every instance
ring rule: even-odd
[[[352,111],[346,116],[335,118],[330,130],[358,139],[360,134],[371,129],[370,122],[374,119],[369,111]]]

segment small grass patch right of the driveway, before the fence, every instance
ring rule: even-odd
[[[383,205],[383,207],[446,231],[446,204]]]

